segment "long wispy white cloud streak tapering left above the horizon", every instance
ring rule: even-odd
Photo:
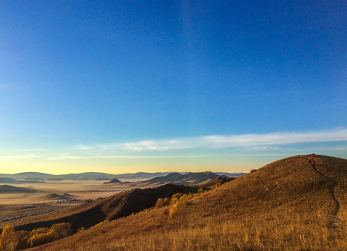
[[[347,141],[347,129],[320,130],[313,132],[273,132],[265,134],[246,135],[208,135],[178,139],[144,140],[139,142],[124,142],[115,144],[97,144],[92,146],[79,145],[85,150],[115,150],[127,151],[168,151],[184,149],[223,149],[243,147],[253,150],[267,149],[269,146],[284,144],[341,142]]]

